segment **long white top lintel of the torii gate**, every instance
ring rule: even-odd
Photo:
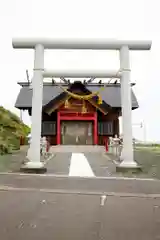
[[[150,50],[150,40],[116,40],[104,38],[13,38],[13,48],[35,48],[41,44],[45,49],[95,49],[95,50],[120,50],[128,46],[130,50]]]

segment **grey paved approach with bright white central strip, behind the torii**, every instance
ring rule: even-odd
[[[115,164],[100,152],[60,153],[46,164],[47,174],[107,177],[116,174]]]

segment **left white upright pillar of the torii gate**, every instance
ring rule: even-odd
[[[35,46],[34,74],[32,79],[32,124],[31,145],[28,150],[29,162],[27,168],[39,169],[44,165],[40,161],[40,138],[42,120],[42,98],[43,98],[43,71],[44,71],[44,47],[41,44]]]

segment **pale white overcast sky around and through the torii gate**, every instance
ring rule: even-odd
[[[157,0],[0,1],[0,105],[14,111],[20,87],[32,77],[33,51],[12,49],[12,37],[151,39],[151,51],[131,52],[131,80],[140,108],[132,112],[137,138],[160,141],[160,22]],[[46,51],[45,68],[119,69],[112,51]],[[23,120],[30,123],[27,113]],[[145,128],[140,129],[140,122]]]

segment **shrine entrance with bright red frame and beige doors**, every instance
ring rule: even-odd
[[[57,144],[97,144],[97,113],[64,113],[57,115]]]

